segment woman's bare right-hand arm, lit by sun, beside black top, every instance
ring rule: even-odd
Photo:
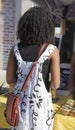
[[[50,55],[51,60],[50,72],[51,72],[51,84],[50,87],[57,89],[60,86],[60,57],[59,50],[55,48],[53,53]]]

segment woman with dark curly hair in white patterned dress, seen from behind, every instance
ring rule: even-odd
[[[20,93],[19,124],[11,130],[52,130],[53,107],[49,86],[60,85],[59,50],[54,41],[54,19],[47,9],[33,7],[18,22],[18,43],[11,48],[7,65],[7,83],[15,83],[19,94],[40,47],[48,43],[23,93]],[[51,85],[49,85],[51,72]]]

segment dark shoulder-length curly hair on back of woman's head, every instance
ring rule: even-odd
[[[23,14],[17,30],[17,38],[24,45],[43,44],[54,41],[54,19],[49,10],[30,8]]]

